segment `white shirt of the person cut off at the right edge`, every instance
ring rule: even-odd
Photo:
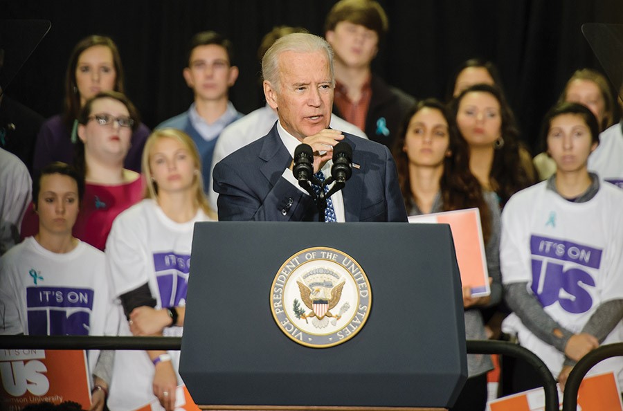
[[[588,170],[623,188],[623,123],[608,127],[599,134],[599,145],[588,157]]]

